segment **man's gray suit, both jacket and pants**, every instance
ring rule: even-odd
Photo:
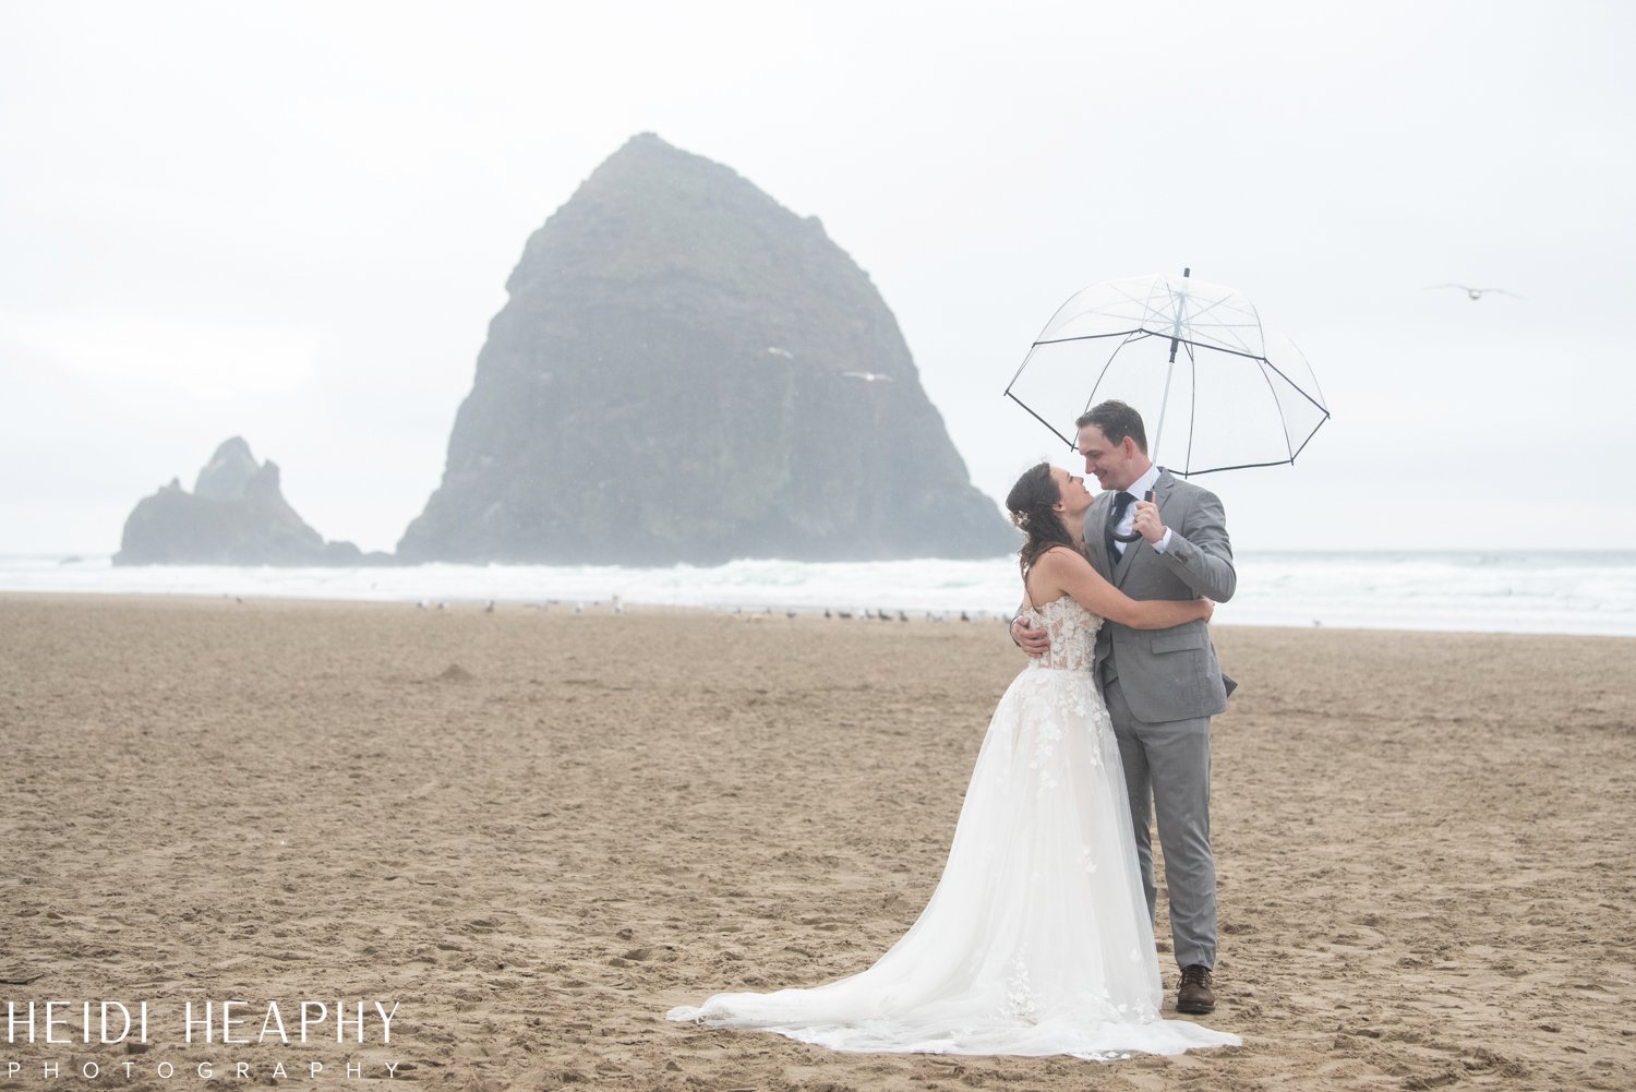
[[[1209,490],[1162,470],[1153,503],[1170,529],[1158,553],[1145,539],[1109,555],[1108,517],[1114,490],[1085,514],[1091,565],[1132,599],[1232,599],[1237,575],[1222,503]],[[1204,622],[1139,630],[1104,622],[1096,673],[1119,738],[1147,909],[1157,907],[1148,822],[1158,812],[1170,889],[1170,933],[1176,964],[1216,966],[1216,860],[1211,856],[1211,717],[1227,709],[1230,683],[1216,663]]]

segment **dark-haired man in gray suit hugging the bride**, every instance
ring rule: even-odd
[[[1142,416],[1121,401],[1093,406],[1075,422],[1085,473],[1103,493],[1085,514],[1091,565],[1132,599],[1232,599],[1237,576],[1222,503],[1178,481],[1147,457]],[[1144,498],[1153,491],[1153,501]],[[1124,542],[1121,535],[1135,535]],[[1011,639],[1031,657],[1050,647],[1045,630],[1013,619]],[[1204,622],[1135,630],[1103,622],[1098,681],[1108,701],[1135,827],[1148,915],[1155,912],[1153,846],[1158,812],[1170,889],[1170,933],[1181,990],[1176,1012],[1216,1009],[1216,860],[1211,856],[1211,717],[1227,709],[1232,683],[1216,663]]]

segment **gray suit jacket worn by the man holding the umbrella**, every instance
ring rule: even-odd
[[[1126,544],[1122,557],[1109,557],[1104,537],[1112,494],[1112,490],[1098,494],[1085,514],[1085,547],[1098,573],[1132,599],[1194,594],[1217,602],[1232,599],[1238,578],[1222,503],[1214,493],[1162,470],[1153,503],[1170,527],[1170,548],[1158,553],[1137,539]],[[1130,712],[1150,724],[1216,715],[1227,709],[1232,688],[1222,678],[1204,622],[1160,630],[1103,622],[1096,670],[1103,678],[1117,678]]]

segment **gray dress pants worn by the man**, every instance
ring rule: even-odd
[[[1119,679],[1106,678],[1103,694],[1119,740],[1130,825],[1147,912],[1158,909],[1150,825],[1158,812],[1158,843],[1165,848],[1165,886],[1170,891],[1170,938],[1176,966],[1216,966],[1216,858],[1211,855],[1211,719],[1137,720]]]

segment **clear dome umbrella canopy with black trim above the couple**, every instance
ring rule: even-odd
[[[1292,463],[1328,421],[1312,367],[1255,305],[1186,273],[1091,285],[1034,339],[1006,396],[1073,447],[1073,421],[1117,398],[1178,475]]]

